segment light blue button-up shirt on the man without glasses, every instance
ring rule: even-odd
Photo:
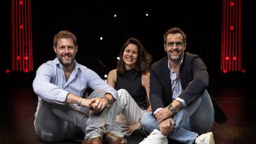
[[[49,103],[64,104],[68,93],[83,96],[88,87],[93,90],[105,90],[117,99],[117,91],[113,87],[109,86],[96,72],[76,61],[67,81],[57,58],[42,64],[36,70],[36,77],[33,80],[33,90],[38,95],[38,103],[43,99]]]

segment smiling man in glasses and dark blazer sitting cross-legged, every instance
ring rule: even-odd
[[[171,28],[164,35],[167,57],[150,69],[150,103],[153,114],[142,116],[143,127],[151,132],[140,144],[214,144],[213,122],[226,121],[224,112],[208,94],[207,66],[196,54],[185,52],[186,35]]]

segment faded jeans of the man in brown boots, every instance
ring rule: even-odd
[[[88,98],[102,97],[105,93],[103,90],[95,90]],[[102,137],[108,127],[116,121],[115,107],[115,103],[110,104],[100,114],[88,117],[89,108],[41,100],[35,112],[35,131],[45,142]]]

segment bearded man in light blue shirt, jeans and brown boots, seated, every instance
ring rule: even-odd
[[[33,81],[38,96],[36,134],[45,142],[84,139],[83,144],[101,144],[106,136],[107,143],[126,143],[126,139],[108,133],[116,120],[117,91],[75,61],[76,36],[59,32],[54,36],[53,48],[57,57],[42,64]],[[94,91],[83,98],[87,88]]]

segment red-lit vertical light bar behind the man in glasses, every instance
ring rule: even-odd
[[[223,0],[221,71],[242,71],[241,0]]]

